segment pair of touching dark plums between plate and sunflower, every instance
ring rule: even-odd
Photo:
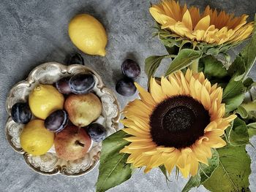
[[[116,92],[121,96],[132,96],[136,92],[134,80],[140,75],[140,66],[132,59],[127,59],[121,65],[124,77],[116,83]]]

